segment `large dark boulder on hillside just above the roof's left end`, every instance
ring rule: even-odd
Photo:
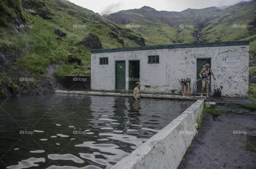
[[[99,37],[93,33],[88,33],[86,37],[83,38],[81,44],[88,49],[102,49],[102,43]]]

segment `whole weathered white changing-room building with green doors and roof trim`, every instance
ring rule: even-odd
[[[211,95],[221,88],[222,96],[248,96],[249,41],[92,50],[91,89],[129,90],[139,81],[143,93],[181,94],[178,79],[193,78],[192,90],[206,63],[217,78],[211,76]],[[199,82],[198,91],[201,86]]]

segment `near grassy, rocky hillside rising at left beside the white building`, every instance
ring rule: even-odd
[[[98,44],[145,45],[139,33],[66,0],[1,0],[0,10],[0,96],[51,92],[58,87],[53,73],[89,75],[89,49]],[[77,57],[84,67],[74,69]],[[33,81],[20,79],[25,77]]]

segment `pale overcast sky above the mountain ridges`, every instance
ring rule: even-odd
[[[229,6],[241,0],[69,0],[100,15],[150,6],[158,11],[183,11],[211,6]],[[245,0],[248,1],[248,0]]]

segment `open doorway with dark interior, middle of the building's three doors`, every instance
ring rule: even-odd
[[[139,82],[139,61],[129,61],[129,89],[134,89],[136,82]]]

